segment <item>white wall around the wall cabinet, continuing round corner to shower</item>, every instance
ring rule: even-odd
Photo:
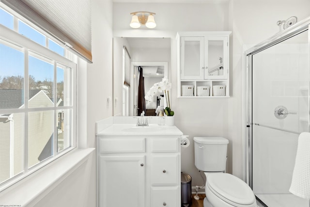
[[[278,20],[310,16],[308,0],[230,0],[226,3],[113,3],[113,34],[154,36],[168,34],[171,43],[172,110],[175,125],[189,135],[192,144],[181,151],[182,171],[192,175],[192,186],[202,185],[194,165],[194,136],[223,136],[228,138],[227,171],[245,178],[243,113],[243,47],[267,39],[279,28]],[[130,29],[130,13],[155,12],[157,27],[147,30]],[[230,38],[231,97],[221,99],[176,98],[176,32],[233,31]],[[176,104],[177,103],[177,104]]]

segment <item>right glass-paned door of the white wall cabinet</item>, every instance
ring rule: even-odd
[[[227,79],[228,77],[228,38],[205,37],[204,79]]]

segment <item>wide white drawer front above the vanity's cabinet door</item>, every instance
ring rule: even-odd
[[[144,138],[104,138],[99,140],[100,153],[145,152]]]

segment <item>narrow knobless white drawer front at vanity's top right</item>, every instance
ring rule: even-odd
[[[179,138],[152,138],[151,152],[178,152]]]

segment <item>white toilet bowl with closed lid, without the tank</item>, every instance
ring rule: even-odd
[[[250,187],[231,174],[209,174],[205,194],[204,207],[257,207]]]

